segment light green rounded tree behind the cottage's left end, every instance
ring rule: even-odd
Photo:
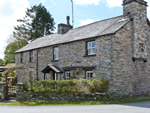
[[[4,57],[4,64],[8,64],[8,63],[15,63],[15,54],[14,52],[17,51],[18,49],[22,48],[23,46],[25,46],[26,44],[28,44],[28,42],[26,40],[18,40],[15,42],[11,42],[5,49],[5,57]]]

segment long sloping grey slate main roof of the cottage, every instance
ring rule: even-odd
[[[51,34],[45,37],[38,38],[28,45],[24,46],[15,53],[33,50],[37,48],[62,44],[87,38],[113,34],[123,27],[129,19],[124,19],[123,15],[97,21],[85,26],[69,30],[66,34]]]

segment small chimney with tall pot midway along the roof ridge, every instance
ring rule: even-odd
[[[70,25],[70,17],[67,16],[67,24],[60,23],[58,24],[58,34],[65,34],[73,27]]]

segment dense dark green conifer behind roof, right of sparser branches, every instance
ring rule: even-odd
[[[39,4],[36,10],[36,16],[32,21],[32,36],[31,40],[52,34],[54,27],[54,19],[47,9]]]

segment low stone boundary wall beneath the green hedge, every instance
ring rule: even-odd
[[[72,100],[72,101],[80,101],[80,100],[102,100],[105,99],[107,95],[105,93],[101,94],[81,94],[81,95],[73,95],[73,94],[57,94],[56,92],[18,92],[17,100],[25,100],[25,99],[48,99],[48,100]]]

